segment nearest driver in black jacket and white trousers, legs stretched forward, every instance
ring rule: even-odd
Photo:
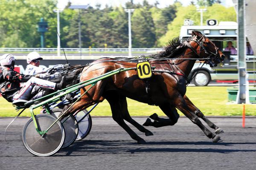
[[[0,94],[8,101],[13,102],[17,99],[29,100],[33,97],[36,87],[50,90],[60,90],[64,88],[65,78],[61,79],[60,83],[49,82],[44,79],[39,79],[32,75],[19,74],[14,71],[15,57],[12,54],[4,54],[0,57]],[[20,88],[20,82],[24,82],[24,86]],[[37,95],[39,98],[43,95]],[[33,97],[32,99],[36,99]]]

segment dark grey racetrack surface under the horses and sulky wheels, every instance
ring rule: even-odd
[[[20,118],[7,131],[12,120],[0,119],[0,170],[255,170],[256,119],[211,118],[225,133],[223,142],[214,144],[189,119],[181,117],[176,125],[148,127],[154,136],[143,137],[148,144],[139,145],[110,117],[94,117],[90,134],[54,156],[30,154],[21,141],[22,127],[28,118]],[[134,118],[143,124],[145,117]],[[213,130],[212,130],[213,131]]]

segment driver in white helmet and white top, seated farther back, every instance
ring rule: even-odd
[[[27,63],[28,65],[26,66],[26,70],[25,70],[25,74],[27,75],[34,75],[34,74],[38,74],[44,71],[47,71],[48,68],[41,68],[39,67],[40,65],[40,60],[42,60],[43,58],[40,56],[40,54],[38,54],[38,52],[33,51],[31,53],[29,53],[27,55]],[[58,64],[53,66],[52,68],[58,69],[58,68],[67,68],[69,67],[70,64]]]

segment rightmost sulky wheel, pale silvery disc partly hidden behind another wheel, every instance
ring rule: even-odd
[[[78,122],[78,125],[79,125],[79,132],[78,132],[76,141],[84,139],[90,133],[90,130],[92,128],[92,118],[91,118],[90,114],[88,114],[86,117],[84,117],[84,115],[87,112],[88,111],[86,109],[84,109],[83,111],[80,111],[79,113],[77,113],[75,116],[76,120]],[[82,119],[83,117],[84,117],[84,119]]]

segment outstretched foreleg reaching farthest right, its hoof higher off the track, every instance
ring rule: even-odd
[[[221,130],[220,127],[214,125],[214,123],[212,123],[209,119],[207,119],[207,117],[205,117],[204,114],[197,107],[195,107],[195,105],[189,100],[189,98],[186,95],[184,96],[184,100],[185,100],[186,104],[188,105],[189,109],[192,112],[194,112],[196,116],[203,119],[204,122],[206,122],[209,127],[211,127],[212,129],[215,129],[216,134],[224,132],[223,130]]]

